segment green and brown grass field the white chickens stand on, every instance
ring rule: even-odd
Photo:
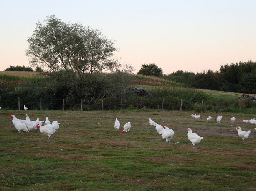
[[[10,114],[26,113],[61,123],[50,142],[39,131],[17,133]],[[0,190],[255,190],[256,125],[242,120],[256,116],[221,114],[216,123],[216,113],[195,120],[177,111],[0,110]],[[116,117],[121,126],[132,123],[129,133],[114,129]],[[171,145],[149,118],[175,131]],[[238,125],[251,130],[245,142]],[[204,137],[197,149],[188,127]]]

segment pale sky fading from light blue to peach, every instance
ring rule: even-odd
[[[49,15],[100,29],[134,73],[256,62],[256,0],[0,0],[0,71],[30,66],[27,38]]]

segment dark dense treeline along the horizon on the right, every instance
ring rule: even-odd
[[[256,62],[225,64],[219,71],[211,69],[202,73],[178,70],[163,78],[199,89],[221,90],[228,92],[256,93]]]

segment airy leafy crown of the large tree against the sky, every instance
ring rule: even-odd
[[[73,70],[83,78],[101,71],[120,67],[114,58],[114,42],[101,31],[81,24],[61,21],[55,15],[44,23],[38,21],[25,51],[31,66],[42,66],[49,71]]]

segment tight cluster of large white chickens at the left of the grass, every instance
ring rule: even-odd
[[[24,106],[25,107],[25,106]],[[31,131],[39,129],[39,131],[43,134],[48,135],[48,142],[53,133],[55,133],[59,129],[58,121],[49,121],[48,117],[46,117],[45,121],[39,121],[40,118],[37,118],[36,121],[31,121],[28,114],[25,115],[26,119],[17,119],[15,115],[11,114],[13,125],[18,130],[18,133],[29,133]]]

